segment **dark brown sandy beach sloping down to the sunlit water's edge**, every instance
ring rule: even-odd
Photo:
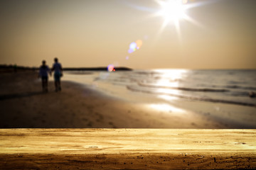
[[[217,119],[203,112],[209,107],[203,103],[198,112],[183,109],[198,107],[188,102],[162,111],[156,103],[120,100],[71,81],[62,81],[63,90],[56,93],[53,77],[43,93],[41,79],[31,71],[1,73],[0,79],[1,128],[251,128],[255,119],[239,115],[244,125],[232,120],[233,113]]]

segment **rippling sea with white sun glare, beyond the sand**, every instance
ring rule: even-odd
[[[256,69],[70,71],[64,77],[114,96],[127,97],[125,91],[135,96],[256,106]]]

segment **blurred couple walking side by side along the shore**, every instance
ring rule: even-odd
[[[61,91],[60,87],[60,77],[63,76],[63,68],[61,64],[58,62],[58,58],[54,59],[53,68],[49,69],[48,65],[46,65],[46,61],[43,60],[42,65],[39,69],[38,77],[42,79],[43,91],[48,92],[48,74],[51,76],[51,71],[54,71],[54,83],[55,83],[55,91]]]

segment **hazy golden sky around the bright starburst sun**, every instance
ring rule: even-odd
[[[255,0],[183,1],[167,21],[169,1],[2,0],[0,64],[256,69]]]

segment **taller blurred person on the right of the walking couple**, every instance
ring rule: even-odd
[[[55,91],[61,91],[60,87],[60,77],[63,76],[63,68],[61,67],[61,64],[58,62],[58,58],[54,59],[53,68],[51,69],[54,71],[54,83],[55,83]]]

